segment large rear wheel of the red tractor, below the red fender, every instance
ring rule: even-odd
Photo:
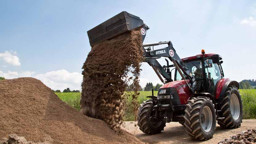
[[[243,118],[243,105],[241,95],[236,86],[228,86],[225,97],[220,102],[224,119],[218,120],[218,124],[224,128],[238,128]]]

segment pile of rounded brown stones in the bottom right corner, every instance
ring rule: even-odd
[[[234,136],[230,136],[229,139],[222,140],[218,144],[224,143],[236,143],[236,144],[253,144],[256,142],[256,130],[242,131]]]

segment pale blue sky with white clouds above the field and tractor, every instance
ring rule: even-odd
[[[150,27],[144,43],[171,41],[180,58],[201,49],[220,54],[225,78],[256,79],[253,0],[0,1],[0,76],[37,78],[54,90],[81,89],[81,67],[91,49],[87,31],[122,11]],[[161,83],[143,63],[140,84],[147,82]]]

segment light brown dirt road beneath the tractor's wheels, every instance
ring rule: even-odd
[[[197,141],[188,137],[185,131],[185,126],[178,122],[166,123],[164,131],[160,134],[148,135],[142,133],[138,126],[134,127],[134,122],[125,122],[124,129],[131,134],[134,134],[142,142],[148,143],[218,143],[225,138],[230,138],[232,135],[241,133],[242,130],[255,129],[256,119],[243,120],[242,126],[237,129],[222,129],[218,124],[213,138],[208,141]]]

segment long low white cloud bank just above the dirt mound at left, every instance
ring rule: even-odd
[[[18,73],[16,71],[7,71],[4,73],[0,70],[0,77],[6,79],[19,77],[32,77],[41,80],[46,86],[54,90],[63,91],[66,88],[70,90],[81,90],[83,75],[77,72],[68,72],[67,70],[56,70],[45,74],[35,74],[35,72],[25,71]]]

